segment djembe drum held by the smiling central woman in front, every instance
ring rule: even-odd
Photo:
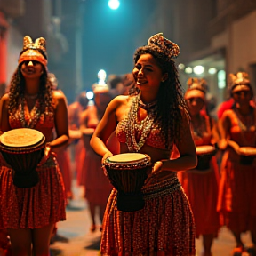
[[[144,205],[141,188],[148,177],[150,157],[140,153],[108,156],[103,167],[117,190],[117,209],[123,212],[141,210]]]

